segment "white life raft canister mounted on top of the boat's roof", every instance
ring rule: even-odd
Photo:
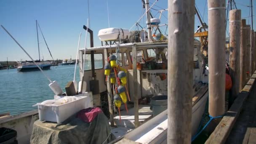
[[[119,34],[121,40],[126,40],[130,37],[131,33],[128,29],[121,28],[107,28],[99,30],[98,37],[101,41],[117,40],[119,41]]]

